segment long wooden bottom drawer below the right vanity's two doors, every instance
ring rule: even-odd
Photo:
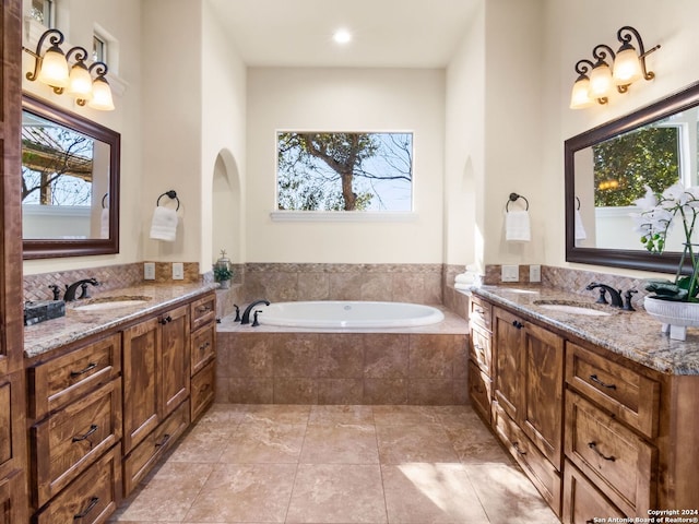
[[[529,440],[497,402],[494,403],[493,408],[493,426],[544,500],[548,502],[556,515],[560,515],[562,483],[554,465]]]

